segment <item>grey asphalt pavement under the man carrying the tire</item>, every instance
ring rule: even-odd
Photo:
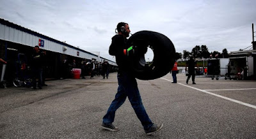
[[[150,119],[164,124],[147,136],[127,99],[113,124],[100,128],[115,98],[116,73],[108,79],[47,81],[47,87],[0,89],[0,138],[256,138],[256,81],[212,80],[184,74],[137,80]]]

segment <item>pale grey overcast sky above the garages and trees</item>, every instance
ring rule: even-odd
[[[0,18],[115,61],[108,48],[118,22],[127,22],[132,34],[166,35],[177,52],[196,45],[206,45],[209,52],[249,47],[256,1],[0,0]]]

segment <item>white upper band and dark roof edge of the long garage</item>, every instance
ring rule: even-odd
[[[31,47],[38,45],[38,40],[42,39],[45,40],[44,44],[47,45],[47,47],[44,47],[43,49],[86,59],[100,58],[111,62],[109,64],[116,65],[116,62],[110,61],[103,57],[99,57],[99,55],[93,54],[86,50],[82,50],[72,45],[68,45],[67,43],[64,43],[62,41],[55,40],[53,38],[50,38],[49,36],[45,36],[44,34],[31,31],[30,29],[19,26],[17,24],[13,24],[12,22],[4,20],[3,18],[0,18],[0,39],[20,43],[22,45],[28,45]],[[64,48],[70,49],[65,51],[63,50]],[[77,53],[79,53],[79,55]]]

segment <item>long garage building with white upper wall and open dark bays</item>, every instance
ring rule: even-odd
[[[35,45],[47,52],[47,78],[61,78],[61,64],[64,60],[72,62],[75,59],[77,68],[81,67],[81,62],[85,59],[108,61],[111,71],[117,67],[114,61],[0,18],[0,57],[8,62],[4,75],[6,78],[14,78],[17,75],[19,60],[26,61],[29,66],[29,56],[33,54]]]

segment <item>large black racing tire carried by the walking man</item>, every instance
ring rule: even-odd
[[[145,51],[151,48],[154,53],[153,61],[147,63],[145,54],[129,57],[136,78],[140,80],[154,80],[170,72],[175,62],[175,48],[172,41],[163,34],[153,31],[139,31],[127,41],[128,47],[136,46]]]

